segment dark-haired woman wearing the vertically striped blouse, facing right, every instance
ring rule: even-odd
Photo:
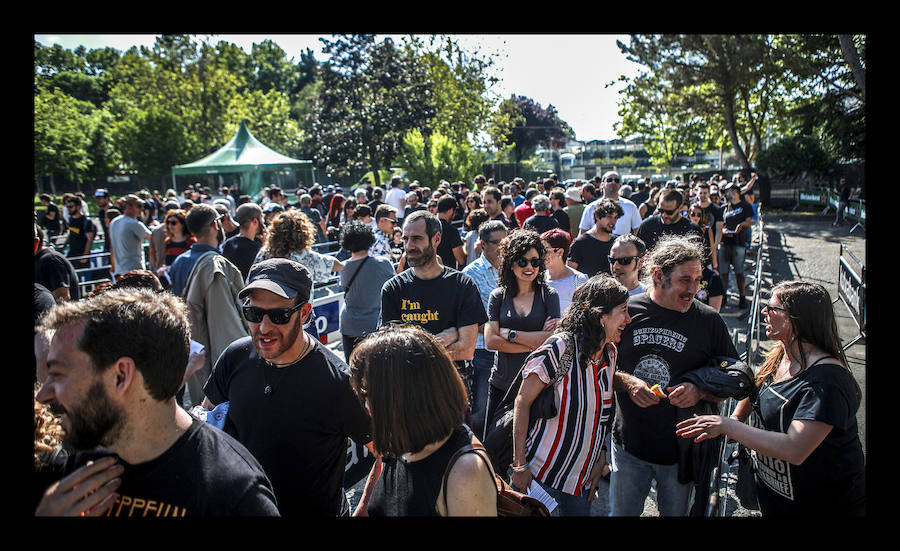
[[[512,485],[537,482],[559,503],[559,516],[588,516],[606,470],[615,343],[629,323],[628,290],[598,274],[575,290],[561,331],[525,360],[513,410]],[[532,422],[531,405],[550,384],[558,413]]]

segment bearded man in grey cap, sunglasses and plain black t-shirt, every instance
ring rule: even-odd
[[[347,516],[347,439],[371,450],[371,422],[347,364],[303,330],[312,285],[309,270],[286,258],[250,269],[239,294],[250,335],[216,361],[203,407],[228,402],[224,430],[259,460],[282,516]]]

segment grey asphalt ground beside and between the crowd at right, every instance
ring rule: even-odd
[[[746,259],[745,274],[747,275],[748,301],[754,292],[759,293],[759,302],[765,303],[770,296],[770,290],[776,284],[785,280],[803,279],[820,283],[831,295],[834,304],[835,316],[838,324],[841,341],[845,346],[850,345],[860,334],[859,327],[848,307],[838,299],[838,274],[841,257],[841,246],[844,249],[844,258],[854,267],[857,274],[860,273],[857,266],[865,266],[866,262],[866,233],[862,227],[853,228],[853,224],[843,227],[832,227],[833,215],[772,213],[763,215],[763,231],[760,236],[758,224],[753,227],[753,247],[760,245],[760,237],[763,238],[762,247],[758,249],[756,256]],[[851,228],[853,231],[851,232]],[[760,277],[757,281],[757,263],[761,262]],[[739,352],[744,352],[747,347],[747,335],[752,331],[750,339],[753,353],[750,354],[751,366],[758,368],[765,353],[773,344],[766,340],[762,315],[758,313],[756,324],[750,326],[750,308],[740,309],[737,306],[737,289],[734,276],[727,292],[727,301],[720,314],[726,325],[736,338]],[[760,307],[757,307],[757,310]],[[341,353],[340,343],[335,343],[332,348]],[[862,404],[857,413],[859,423],[859,436],[862,440],[863,450],[866,450],[866,340],[860,339],[850,345],[846,350],[847,361],[850,369],[863,391]],[[728,450],[730,450],[730,446]],[[726,450],[727,451],[727,450]],[[736,466],[735,466],[736,469]],[[722,476],[722,490],[720,491],[721,504],[718,512],[714,513],[725,517],[754,517],[759,516],[759,511],[750,510],[741,506],[733,492],[735,471],[724,469]],[[591,507],[591,516],[607,516],[609,514],[609,486],[601,482],[598,488],[598,496]],[[347,495],[351,506],[355,507],[362,491],[362,482],[348,490]],[[647,498],[644,512],[641,516],[658,516],[656,508],[655,488],[651,489]]]

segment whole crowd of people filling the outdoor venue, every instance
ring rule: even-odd
[[[861,397],[820,285],[773,289],[780,344],[731,418],[691,376],[738,357],[720,311],[732,271],[747,307],[756,181],[41,196],[35,514],[493,516],[496,472],[558,516],[588,515],[601,479],[611,516],[653,484],[687,516],[709,474],[691,450],[722,435],[753,450],[763,515],[858,514]],[[84,263],[98,235],[108,281]],[[343,357],[311,327],[327,285]],[[509,464],[451,462],[504,415]],[[353,511],[348,441],[375,458]]]

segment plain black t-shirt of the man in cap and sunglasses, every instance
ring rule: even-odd
[[[238,339],[203,387],[214,405],[229,402],[225,431],[259,460],[284,517],[339,516],[347,439],[371,441],[350,368],[322,346],[316,341],[299,362],[275,368],[259,357],[251,337]]]

